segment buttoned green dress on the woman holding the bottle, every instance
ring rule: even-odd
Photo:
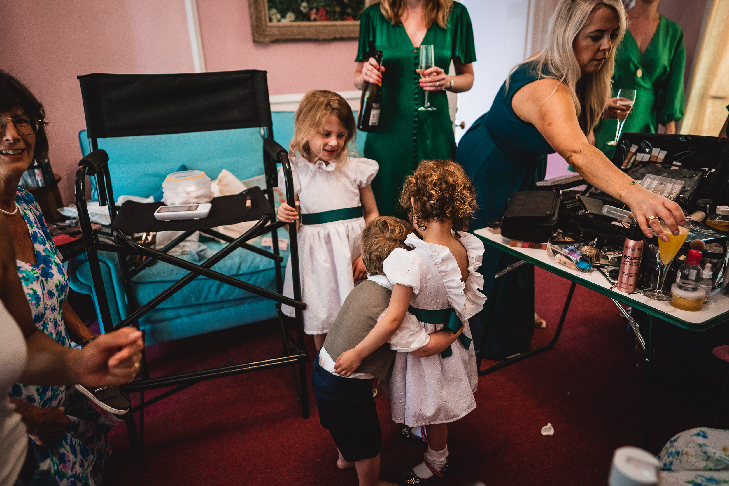
[[[460,58],[464,64],[474,62],[473,29],[466,7],[453,2],[448,28],[434,23],[421,44],[433,44],[435,65],[446,72],[453,58]],[[456,138],[445,91],[429,92],[435,111],[418,111],[425,103],[425,92],[418,82],[420,75],[416,73],[418,48],[413,47],[402,24],[392,25],[382,15],[380,4],[364,9],[359,19],[356,62],[369,59],[373,50],[383,52],[383,97],[378,130],[367,133],[364,157],[380,164],[372,182],[380,214],[402,216],[398,198],[405,177],[421,160],[455,157]]]

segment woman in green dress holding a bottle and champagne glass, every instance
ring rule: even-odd
[[[418,69],[418,47],[432,44],[435,66]],[[382,66],[371,57],[383,51]],[[453,60],[456,75],[446,74]],[[383,98],[378,130],[367,134],[364,157],[377,160],[372,183],[383,216],[400,214],[402,181],[424,159],[452,159],[456,138],[445,90],[461,93],[473,85],[476,60],[471,19],[453,0],[381,0],[362,12],[354,85],[381,82]],[[418,111],[424,91],[435,111]]]

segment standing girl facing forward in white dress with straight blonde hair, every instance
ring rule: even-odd
[[[379,166],[349,156],[355,133],[354,114],[337,93],[314,90],[301,100],[289,151],[296,208],[281,204],[278,219],[297,222],[304,332],[313,334],[316,350],[354,281],[367,278],[359,239],[367,222],[379,216],[370,187]],[[285,187],[283,169],[278,185]],[[284,295],[294,295],[291,259]],[[283,305],[281,310],[294,316],[293,307]]]

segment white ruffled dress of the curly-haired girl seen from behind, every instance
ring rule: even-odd
[[[413,289],[413,307],[453,307],[466,324],[463,334],[471,338],[467,320],[486,302],[486,296],[479,291],[483,289],[483,275],[476,272],[481,265],[483,243],[467,232],[460,232],[460,242],[468,255],[469,275],[465,282],[461,282],[458,262],[447,247],[426,243],[414,233],[405,240],[413,251],[396,248],[383,263],[383,270],[392,283]],[[444,327],[418,323],[428,334]],[[478,385],[478,373],[474,346],[471,343],[466,349],[456,340],[451,350],[453,354],[448,358],[440,354],[416,358],[410,353],[397,353],[390,380],[395,423],[418,427],[454,422],[475,409],[473,392]]]

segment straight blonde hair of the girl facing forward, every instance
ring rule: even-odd
[[[316,132],[321,130],[324,122],[330,116],[339,120],[347,136],[344,139],[344,147],[338,154],[337,160],[346,160],[349,152],[354,152],[354,140],[356,138],[356,122],[349,103],[341,95],[333,91],[313,90],[309,91],[301,99],[299,108],[294,116],[294,138],[291,141],[289,155],[296,156],[299,152],[306,160],[317,157],[321,154],[312,154],[309,141]],[[352,142],[352,147],[349,143]]]

